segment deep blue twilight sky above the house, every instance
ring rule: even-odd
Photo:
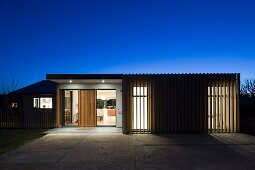
[[[0,80],[46,73],[255,77],[254,0],[1,0]]]

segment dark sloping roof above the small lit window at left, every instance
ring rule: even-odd
[[[42,80],[10,94],[56,94],[57,83],[50,80]]]

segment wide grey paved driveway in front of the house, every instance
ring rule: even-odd
[[[255,169],[255,136],[51,133],[0,156],[0,169]]]

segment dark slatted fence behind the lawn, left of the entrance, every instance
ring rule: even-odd
[[[56,113],[53,110],[0,111],[0,128],[52,127],[56,127]]]

